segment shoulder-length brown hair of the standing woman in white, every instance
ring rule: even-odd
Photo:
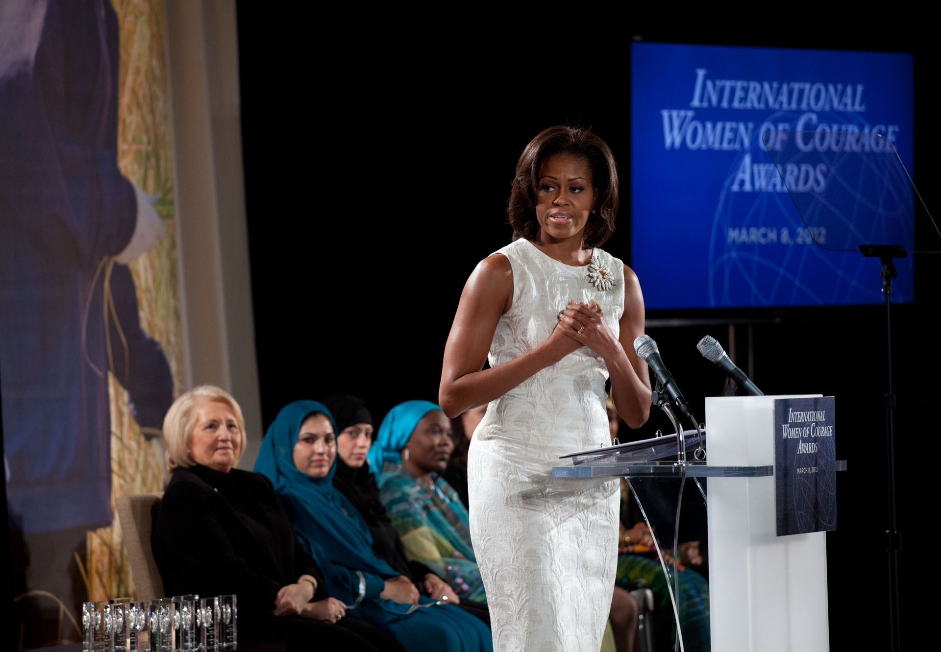
[[[617,214],[617,167],[614,153],[598,135],[587,129],[557,125],[530,141],[517,163],[507,214],[513,227],[513,239],[537,241],[539,224],[535,219],[535,189],[539,183],[539,167],[554,154],[572,154],[588,161],[592,185],[598,191],[597,210],[588,217],[583,246],[590,249],[603,245],[614,233]]]

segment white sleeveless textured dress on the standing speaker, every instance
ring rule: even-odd
[[[614,286],[588,267],[558,262],[519,239],[499,253],[513,268],[513,305],[497,325],[489,362],[518,358],[549,338],[569,299],[595,301],[618,334],[624,263],[596,248]],[[597,652],[617,562],[617,481],[552,478],[565,453],[610,443],[608,371],[588,347],[492,402],[468,455],[470,536],[486,587],[493,648]]]

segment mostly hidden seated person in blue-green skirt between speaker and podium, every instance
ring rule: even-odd
[[[620,422],[610,400],[608,401],[608,426],[611,438],[614,440],[617,437]],[[646,506],[646,508],[649,514],[650,507]],[[660,508],[665,509],[662,505]],[[646,523],[634,516],[635,510],[637,510],[636,501],[630,494],[630,487],[627,481],[621,479],[621,524],[617,539],[615,599],[617,587],[633,588],[639,584],[648,586],[653,591],[655,600],[652,613],[655,644],[658,649],[669,648],[673,646],[673,632],[676,627],[673,606],[660,561],[652,556],[656,554],[653,551],[653,535]],[[678,565],[679,595],[677,598],[679,622],[683,628],[683,644],[688,652],[709,650],[709,583],[699,573],[683,566],[683,564],[702,564],[699,545],[698,542],[691,542],[682,544],[679,548],[681,555],[685,556],[685,559],[681,556],[679,560],[681,563]],[[665,562],[672,564],[672,558],[666,553],[664,555]]]

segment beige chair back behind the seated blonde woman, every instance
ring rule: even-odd
[[[120,528],[124,533],[124,546],[131,564],[131,577],[138,600],[152,600],[164,596],[164,582],[153,561],[151,531],[153,518],[160,508],[164,493],[119,496],[117,499]]]

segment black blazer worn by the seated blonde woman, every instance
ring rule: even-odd
[[[167,596],[238,596],[239,620],[273,617],[282,586],[308,574],[327,597],[271,482],[260,473],[177,468],[153,523],[153,557]]]

